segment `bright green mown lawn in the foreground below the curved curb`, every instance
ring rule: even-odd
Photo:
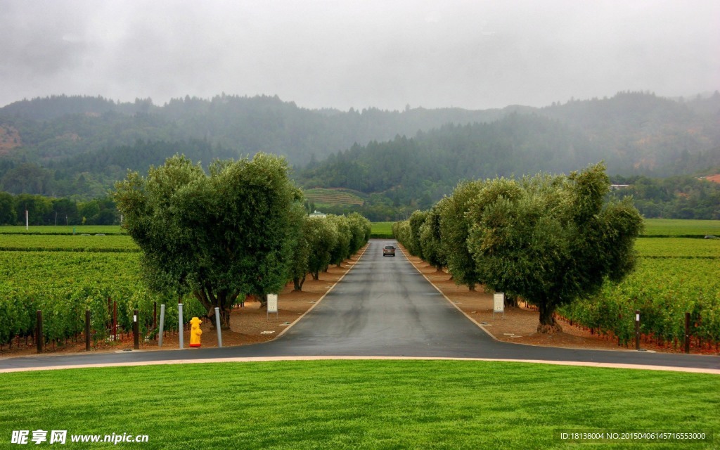
[[[11,446],[13,430],[32,436],[37,429],[148,435],[148,443],[118,444],[138,449],[570,446],[557,438],[560,430],[703,431],[720,438],[720,377],[711,374],[479,361],[285,361],[0,379],[0,446]]]

